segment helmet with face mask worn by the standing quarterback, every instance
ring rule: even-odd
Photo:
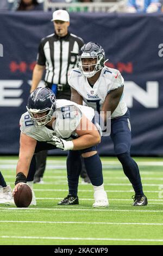
[[[96,42],[88,42],[87,44],[83,45],[78,53],[77,58],[79,70],[86,77],[94,76],[104,67],[105,64],[105,52],[102,46]],[[96,64],[84,65],[82,63],[82,59],[86,58],[96,59]],[[93,70],[91,66],[93,66]]]

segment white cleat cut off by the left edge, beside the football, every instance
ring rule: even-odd
[[[7,187],[0,188],[0,204],[11,205],[12,202],[12,191],[10,185]]]

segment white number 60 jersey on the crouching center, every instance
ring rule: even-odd
[[[20,119],[20,130],[29,137],[36,139],[36,141],[47,142],[53,145],[55,144],[52,141],[54,135],[66,141],[71,141],[78,137],[75,130],[83,114],[91,121],[95,111],[90,107],[81,106],[69,100],[57,100],[56,110],[53,113],[53,117],[56,119],[52,124],[52,129],[46,126],[35,127],[28,112],[26,112],[22,114]]]

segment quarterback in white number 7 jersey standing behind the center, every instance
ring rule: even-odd
[[[130,113],[123,97],[124,79],[120,71],[106,67],[105,62],[101,45],[88,42],[80,49],[79,68],[72,69],[68,76],[71,101],[81,105],[84,101],[98,113],[103,111],[105,123],[111,118],[110,136],[114,151],[135,191],[133,206],[147,205],[139,167],[130,156]]]

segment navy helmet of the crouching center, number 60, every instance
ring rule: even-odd
[[[38,87],[29,95],[27,110],[34,126],[44,126],[52,120],[55,102],[55,94],[49,88]]]

